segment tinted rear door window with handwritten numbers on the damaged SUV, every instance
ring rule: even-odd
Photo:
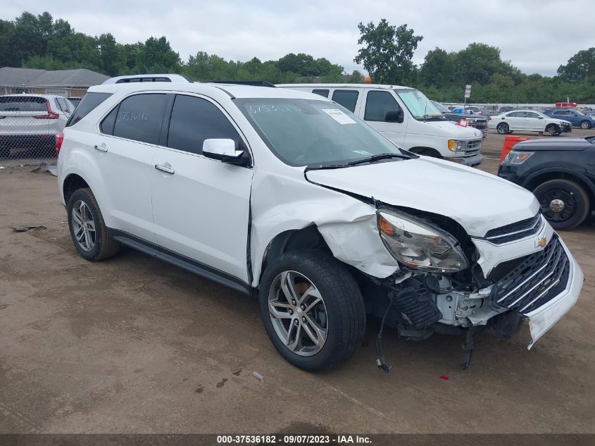
[[[165,94],[135,94],[127,97],[120,102],[113,135],[157,144],[164,111]]]

